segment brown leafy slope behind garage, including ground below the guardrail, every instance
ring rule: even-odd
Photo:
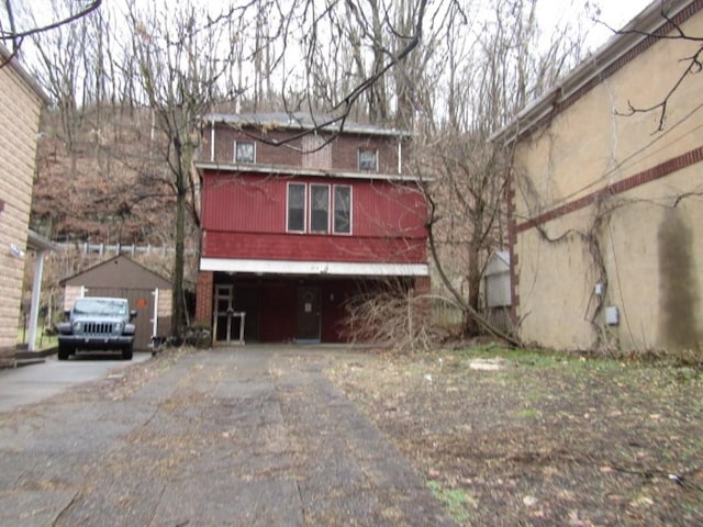
[[[43,273],[42,310],[53,322],[63,306],[60,281],[114,257],[116,247],[171,278],[175,197],[150,119],[148,110],[121,108],[76,111],[71,120],[56,110],[44,112],[30,227],[62,245],[47,256]],[[199,235],[189,220],[185,279],[192,290]],[[86,250],[87,244],[111,250]],[[155,250],[132,254],[133,245]],[[32,272],[27,262],[25,310]]]

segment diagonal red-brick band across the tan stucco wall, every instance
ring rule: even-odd
[[[515,234],[522,233],[537,225],[542,225],[557,217],[563,216],[571,212],[584,209],[604,195],[616,195],[623,192],[627,192],[640,184],[655,181],[657,179],[669,176],[672,172],[690,167],[698,162],[703,161],[703,146],[687,152],[680,156],[673,157],[667,161],[663,161],[655,167],[644,170],[639,173],[625,178],[615,183],[603,187],[600,190],[591,192],[578,200],[570,201],[563,205],[557,206],[550,211],[547,211],[538,216],[535,216],[526,222],[515,225]]]

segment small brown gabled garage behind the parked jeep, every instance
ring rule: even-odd
[[[64,311],[82,296],[127,299],[136,311],[134,349],[145,350],[152,337],[170,332],[172,285],[165,278],[124,255],[118,255],[62,280]]]

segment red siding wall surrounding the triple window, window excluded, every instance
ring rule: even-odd
[[[287,183],[292,178],[207,171],[203,256],[212,258],[426,262],[426,204],[412,186],[324,180],[352,187],[353,234],[286,233]],[[295,179],[323,182],[320,178]]]

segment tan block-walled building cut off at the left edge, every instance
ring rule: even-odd
[[[15,352],[27,246],[37,133],[46,94],[0,44],[0,367]],[[40,280],[41,284],[41,280]],[[36,284],[35,284],[36,289]]]

